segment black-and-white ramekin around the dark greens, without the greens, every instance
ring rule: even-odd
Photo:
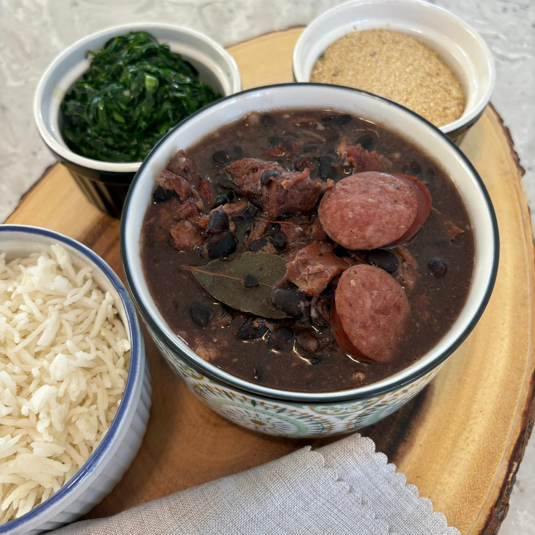
[[[121,215],[126,192],[141,162],[102,162],[73,152],[60,133],[60,104],[74,82],[89,68],[87,50],[99,50],[112,37],[140,31],[154,35],[159,43],[168,43],[173,52],[179,52],[197,69],[199,79],[217,93],[226,96],[241,90],[238,66],[223,47],[201,33],[170,24],[139,22],[113,26],[84,37],[61,52],[37,86],[35,123],[49,150],[68,167],[86,197],[114,217]]]

